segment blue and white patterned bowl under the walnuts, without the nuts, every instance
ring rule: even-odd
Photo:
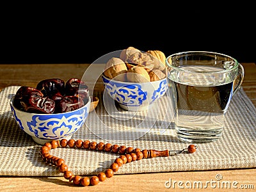
[[[166,93],[167,79],[147,83],[115,81],[102,74],[105,91],[127,111],[145,111]]]

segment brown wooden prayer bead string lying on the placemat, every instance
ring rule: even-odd
[[[74,175],[70,170],[68,170],[68,166],[65,163],[65,160],[52,156],[50,154],[50,150],[57,147],[70,147],[70,148],[84,148],[88,150],[98,150],[104,152],[112,152],[115,154],[120,154],[120,157],[117,157],[114,163],[105,170],[105,172],[100,172],[97,175],[93,175],[92,177],[81,177],[79,175]],[[196,151],[195,145],[189,145],[187,148],[188,153],[193,153]],[[103,182],[107,178],[113,177],[114,173],[118,171],[120,166],[125,163],[131,163],[132,161],[138,161],[140,159],[148,159],[152,157],[168,157],[169,150],[140,150],[140,148],[132,148],[125,147],[124,145],[111,145],[111,143],[102,143],[95,142],[89,140],[52,140],[51,142],[45,143],[40,148],[40,155],[42,156],[43,161],[46,163],[52,164],[63,173],[63,177],[69,182],[73,182],[79,186],[95,186],[99,184],[99,182]]]

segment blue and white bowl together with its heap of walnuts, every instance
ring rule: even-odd
[[[166,57],[162,51],[140,51],[128,47],[110,58],[102,73],[104,91],[120,108],[145,111],[167,90]]]

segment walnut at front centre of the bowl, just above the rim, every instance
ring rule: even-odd
[[[150,76],[144,67],[134,66],[127,72],[127,81],[134,83],[150,82]]]

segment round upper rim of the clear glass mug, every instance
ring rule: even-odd
[[[218,55],[218,56],[222,56],[223,58],[229,58],[230,60],[233,60],[235,65],[233,68],[223,68],[223,70],[221,71],[214,71],[214,72],[198,72],[198,71],[194,71],[194,70],[188,70],[188,69],[184,69],[184,68],[179,68],[179,67],[175,67],[173,65],[171,65],[169,63],[169,59],[172,58],[173,56],[179,56],[179,55],[182,55],[182,54],[189,54],[189,53],[202,53],[202,54],[212,54],[212,56],[214,55]],[[184,52],[177,52],[177,53],[174,53],[174,54],[171,54],[170,56],[166,57],[166,60],[165,60],[165,63],[167,65],[167,67],[172,67],[174,68],[175,70],[182,70],[184,72],[193,72],[193,73],[200,73],[200,74],[216,74],[216,73],[223,73],[223,72],[230,72],[232,70],[236,70],[238,67],[239,67],[239,62],[233,58],[232,56],[228,56],[227,54],[222,54],[222,53],[219,53],[219,52],[211,52],[211,51],[184,51]]]

